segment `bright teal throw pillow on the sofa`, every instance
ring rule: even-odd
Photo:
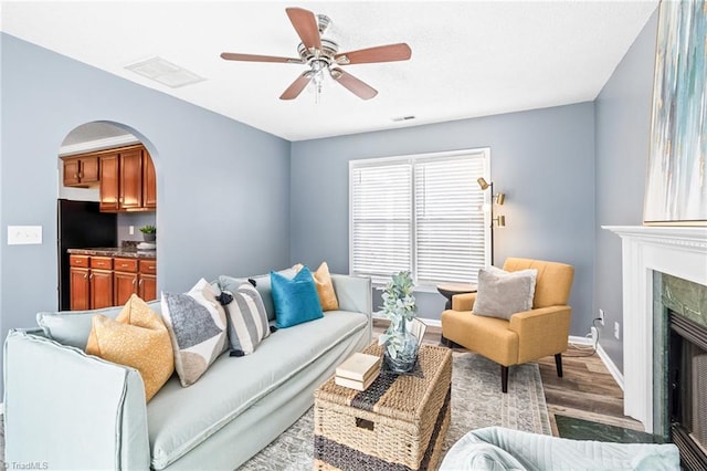
[[[275,304],[275,326],[277,328],[324,317],[314,278],[304,266],[292,280],[277,272],[270,272],[273,303]]]

